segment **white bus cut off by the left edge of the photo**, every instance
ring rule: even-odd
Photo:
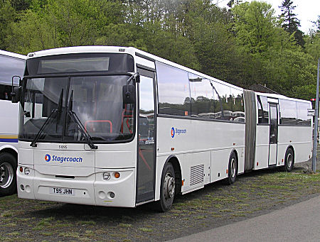
[[[16,192],[18,104],[11,103],[14,75],[23,77],[26,56],[0,50],[0,196]],[[18,77],[14,86],[18,87]]]

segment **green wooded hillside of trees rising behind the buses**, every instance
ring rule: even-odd
[[[301,48],[294,15],[288,25],[287,12],[277,19],[265,2],[229,6],[220,9],[210,0],[3,0],[0,47],[27,54],[73,45],[133,46],[240,87],[260,83],[284,95],[314,97],[319,19]]]

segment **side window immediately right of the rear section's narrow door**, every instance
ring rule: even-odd
[[[279,99],[280,123],[284,125],[297,124],[296,101]]]

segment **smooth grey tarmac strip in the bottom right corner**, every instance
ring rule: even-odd
[[[320,241],[320,196],[171,242],[183,241]]]

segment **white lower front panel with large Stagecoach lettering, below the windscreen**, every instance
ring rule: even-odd
[[[38,147],[31,148],[29,142],[19,142],[18,165],[29,167],[31,173],[24,175],[23,172],[17,172],[18,197],[110,207],[135,207],[136,172],[132,160],[137,157],[136,142],[99,145],[96,151],[88,150],[87,145],[83,144],[63,144],[68,146],[68,150],[58,150],[59,145],[61,144],[38,143]],[[46,160],[46,155],[50,155],[50,160],[48,156],[48,161]],[[67,158],[81,160],[71,162]],[[120,177],[112,177],[106,181],[103,180],[104,172],[119,172]],[[24,190],[21,185],[25,187]],[[52,187],[73,189],[75,195],[50,194]],[[114,192],[114,198],[108,195],[109,192]]]

